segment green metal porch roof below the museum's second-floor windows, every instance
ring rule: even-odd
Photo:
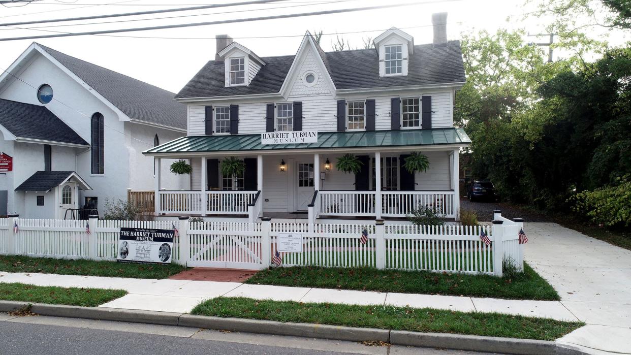
[[[318,132],[317,143],[261,144],[261,134],[186,136],[148,149],[143,154],[228,151],[277,151],[281,149],[339,149],[392,146],[466,146],[471,139],[461,128],[402,129],[399,131]]]

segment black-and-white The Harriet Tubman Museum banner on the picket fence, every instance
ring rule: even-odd
[[[173,259],[173,230],[121,228],[117,261],[168,264]]]

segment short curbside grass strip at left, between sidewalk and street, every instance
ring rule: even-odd
[[[122,289],[62,288],[34,286],[20,282],[0,282],[0,300],[96,307],[125,296]]]

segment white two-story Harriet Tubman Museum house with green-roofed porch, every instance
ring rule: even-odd
[[[308,32],[295,55],[259,57],[220,36],[209,61],[175,96],[187,105],[187,136],[148,149],[191,161],[191,190],[155,178],[156,213],[208,218],[404,218],[428,206],[456,219],[459,149],[456,90],[462,52],[448,41],[446,13],[434,14],[433,42],[391,28],[374,48],[324,52]],[[404,168],[412,153],[425,172]],[[339,171],[353,154],[360,171]],[[245,171],[221,174],[230,157]],[[160,171],[160,170],[156,170]]]

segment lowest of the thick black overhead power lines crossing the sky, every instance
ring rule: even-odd
[[[140,27],[140,28],[122,28],[120,30],[102,30],[102,31],[90,31],[90,32],[75,32],[75,33],[57,33],[54,35],[38,35],[38,36],[26,36],[26,37],[11,37],[11,38],[0,38],[0,42],[2,41],[11,41],[11,40],[34,40],[38,38],[53,38],[53,37],[74,37],[74,36],[85,36],[85,35],[103,35],[107,33],[123,33],[123,32],[138,32],[138,31],[149,31],[149,30],[164,30],[167,28],[184,28],[184,27],[194,27],[194,26],[209,26],[209,25],[223,25],[226,23],[242,23],[242,22],[252,22],[252,21],[264,21],[264,20],[279,20],[281,18],[297,18],[297,17],[305,17],[305,16],[319,16],[319,15],[333,15],[338,13],[351,13],[357,11],[368,11],[375,9],[388,9],[388,8],[401,8],[404,6],[413,6],[418,4],[430,4],[430,3],[447,3],[452,1],[462,1],[462,0],[430,0],[430,1],[417,1],[415,3],[399,3],[399,4],[390,4],[390,5],[378,5],[378,6],[365,6],[363,8],[347,8],[347,9],[335,9],[335,10],[326,10],[326,11],[315,11],[312,13],[295,13],[295,14],[286,14],[286,15],[274,15],[274,16],[259,16],[255,18],[240,18],[235,20],[221,20],[221,21],[208,21],[208,22],[198,22],[198,23],[181,23],[178,25],[163,25],[163,26],[151,26],[151,27]]]

